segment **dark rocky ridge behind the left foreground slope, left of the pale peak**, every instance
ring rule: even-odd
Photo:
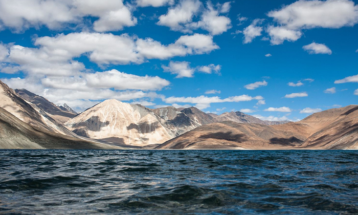
[[[57,105],[50,102],[46,98],[42,96],[31,93],[26,89],[16,89],[15,92],[24,100],[35,104],[39,109],[44,111],[51,118],[55,119],[58,123],[64,123],[69,121],[73,117],[77,115],[77,113],[73,113],[68,111],[67,109],[60,109]],[[71,107],[69,107],[71,109]],[[72,110],[72,109],[71,109]]]

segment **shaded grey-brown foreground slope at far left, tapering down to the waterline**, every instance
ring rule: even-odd
[[[2,149],[114,149],[107,144],[40,131],[0,107]]]

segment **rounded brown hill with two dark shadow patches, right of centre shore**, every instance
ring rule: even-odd
[[[200,126],[169,140],[158,149],[284,149],[306,139],[296,132],[277,131],[271,126],[232,121]]]

